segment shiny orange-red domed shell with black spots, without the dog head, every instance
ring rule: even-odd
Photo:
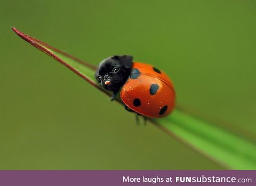
[[[133,62],[120,97],[127,107],[147,117],[164,117],[172,112],[175,104],[169,77],[162,70],[139,62]]]

